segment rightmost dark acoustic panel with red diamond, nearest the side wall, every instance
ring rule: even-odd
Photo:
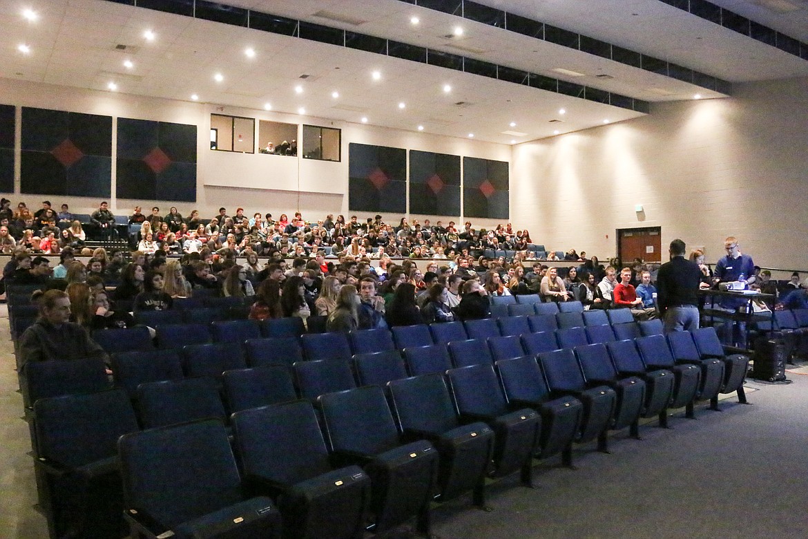
[[[490,159],[463,158],[463,215],[507,219],[508,163]]]

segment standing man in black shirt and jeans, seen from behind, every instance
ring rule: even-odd
[[[657,274],[657,300],[665,333],[699,328],[696,292],[701,283],[701,270],[696,263],[684,259],[684,249],[682,240],[673,240],[668,250],[671,261],[664,263]]]

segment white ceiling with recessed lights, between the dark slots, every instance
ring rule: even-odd
[[[808,41],[806,0],[713,0],[797,39]],[[778,13],[760,2],[776,2]],[[787,5],[783,2],[787,2]],[[229,0],[233,6],[301,19],[352,32],[461,54],[499,65],[646,101],[722,95],[556,44],[396,0]],[[808,61],[740,36],[658,0],[482,0],[488,6],[550,23],[636,52],[675,62],[730,82],[808,75]],[[23,8],[39,18],[29,23]],[[339,23],[314,14],[327,11],[360,21]],[[593,14],[596,14],[593,15]],[[636,15],[634,15],[636,14]],[[414,26],[410,17],[418,16]],[[461,38],[446,39],[455,26]],[[157,35],[153,42],[143,32]],[[31,53],[17,51],[28,44]],[[117,44],[127,50],[116,50]],[[0,77],[297,113],[387,128],[523,142],[642,116],[567,95],[465,74],[434,65],[385,57],[222,23],[170,15],[102,0],[0,0]],[[247,58],[244,49],[255,49]],[[124,67],[124,60],[134,63]],[[583,74],[570,78],[563,68]],[[381,72],[373,81],[371,71]],[[213,75],[221,73],[223,82]],[[303,74],[310,75],[305,81]],[[612,78],[596,78],[608,74]],[[294,86],[303,86],[297,95]],[[448,94],[444,84],[452,86]],[[339,98],[331,97],[333,91]],[[398,103],[406,103],[404,109]],[[462,106],[455,103],[464,102]],[[559,115],[560,108],[566,109]],[[550,123],[550,120],[562,120]],[[511,127],[510,122],[516,122]],[[503,134],[504,131],[524,133]]]

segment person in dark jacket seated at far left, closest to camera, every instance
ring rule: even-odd
[[[39,305],[40,316],[19,338],[21,374],[34,361],[69,361],[99,357],[108,360],[86,329],[69,322],[70,298],[61,290],[37,290],[32,299]]]

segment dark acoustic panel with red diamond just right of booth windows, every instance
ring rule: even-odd
[[[348,145],[348,208],[406,213],[406,149]]]

